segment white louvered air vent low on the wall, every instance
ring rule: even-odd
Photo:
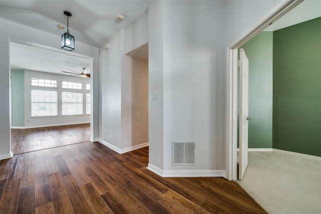
[[[195,165],[195,141],[173,141],[172,164]]]

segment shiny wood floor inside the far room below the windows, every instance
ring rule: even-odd
[[[90,123],[11,130],[14,154],[85,142],[90,138]]]

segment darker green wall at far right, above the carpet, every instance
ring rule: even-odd
[[[321,156],[321,18],[273,34],[273,148]]]

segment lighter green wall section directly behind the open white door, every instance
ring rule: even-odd
[[[272,148],[273,32],[241,48],[249,59],[249,148]]]

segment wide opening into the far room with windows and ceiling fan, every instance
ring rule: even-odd
[[[92,62],[88,56],[10,41],[13,154],[89,141],[93,82],[62,71],[93,73]]]

